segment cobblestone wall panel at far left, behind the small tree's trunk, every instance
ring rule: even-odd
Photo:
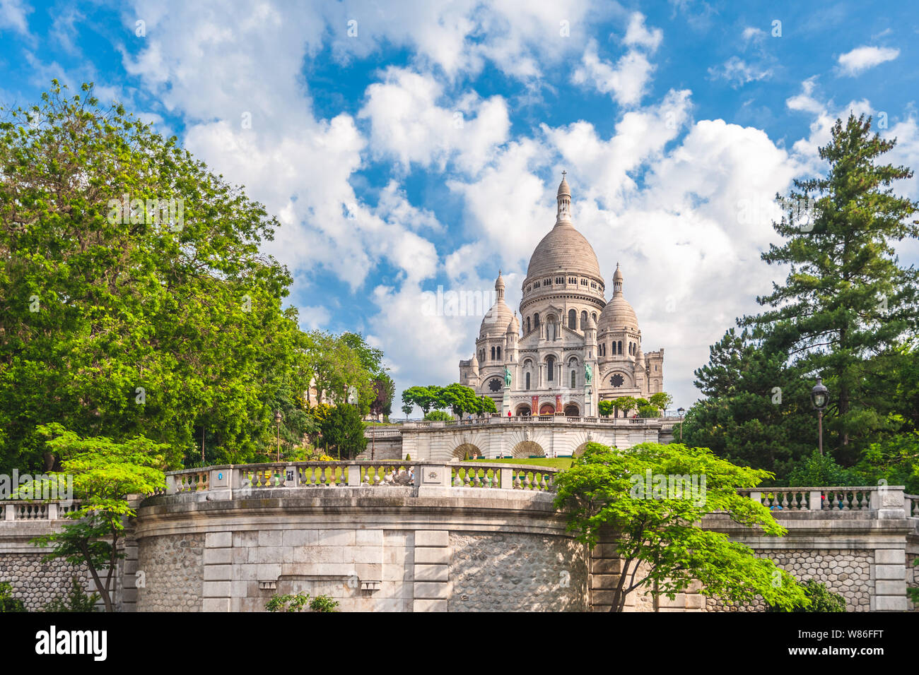
[[[42,555],[39,552],[0,555],[0,581],[12,585],[13,597],[24,602],[29,612],[40,612],[55,598],[67,595],[74,576],[84,589],[88,587],[85,566],[74,566],[61,559],[42,562]]]

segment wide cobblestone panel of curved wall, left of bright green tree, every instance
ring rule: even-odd
[[[587,611],[587,563],[573,539],[451,532],[449,542],[450,612]]]

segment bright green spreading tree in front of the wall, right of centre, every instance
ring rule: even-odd
[[[709,597],[748,602],[761,595],[791,607],[807,601],[787,572],[701,525],[706,515],[720,512],[766,535],[785,534],[765,506],[737,494],[767,475],[735,467],[707,448],[644,443],[617,453],[589,443],[556,477],[555,507],[565,510],[569,529],[590,548],[601,529],[615,533],[621,574],[610,611],[621,612],[631,591],[645,588],[672,599],[694,580]],[[691,477],[707,480],[693,483]]]

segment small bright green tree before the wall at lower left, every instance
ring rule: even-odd
[[[45,560],[63,558],[72,565],[86,565],[102,596],[106,612],[114,612],[111,582],[119,558],[120,534],[125,521],[136,515],[128,501],[132,494],[147,495],[165,489],[167,444],[154,444],[143,436],[115,443],[110,438],[80,438],[61,424],[39,427],[47,444],[62,457],[62,472],[50,480],[73,476],[74,496],[80,507],[67,513],[72,522],[60,532],[43,534],[32,543],[52,546]],[[105,581],[100,572],[106,571]]]

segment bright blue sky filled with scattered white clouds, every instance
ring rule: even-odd
[[[759,260],[771,199],[823,170],[834,119],[874,116],[919,166],[917,34],[907,3],[0,0],[0,101],[92,81],[178,135],[280,219],[304,328],[363,332],[399,391],[474,350],[481,316],[425,292],[501,268],[516,307],[565,169],[688,407],[709,344],[784,278]]]

